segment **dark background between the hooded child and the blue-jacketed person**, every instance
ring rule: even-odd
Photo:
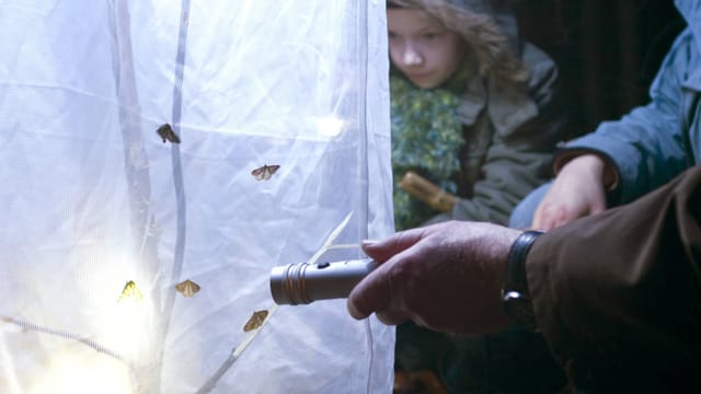
[[[522,37],[560,68],[573,137],[647,103],[686,26],[673,0],[521,0],[515,8]]]

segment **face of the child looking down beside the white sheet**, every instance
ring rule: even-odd
[[[420,88],[446,82],[460,66],[466,45],[460,35],[417,9],[388,9],[392,63]]]

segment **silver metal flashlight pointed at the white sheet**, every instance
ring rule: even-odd
[[[370,258],[319,264],[290,264],[271,270],[271,292],[278,305],[346,298],[378,264]]]

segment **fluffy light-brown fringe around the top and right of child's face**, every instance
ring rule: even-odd
[[[413,8],[426,12],[462,37],[472,50],[481,76],[498,82],[522,84],[529,71],[512,49],[508,37],[492,16],[489,0],[388,0],[388,8]]]

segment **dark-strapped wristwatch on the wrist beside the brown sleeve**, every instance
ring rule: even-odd
[[[521,328],[531,332],[538,331],[538,325],[526,279],[526,256],[536,239],[542,234],[542,231],[528,230],[514,241],[508,253],[506,276],[502,289],[504,312],[513,317]]]

